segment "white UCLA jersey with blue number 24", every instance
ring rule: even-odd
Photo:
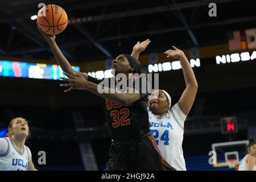
[[[148,108],[148,117],[151,133],[163,158],[178,171],[186,171],[182,142],[187,116],[181,111],[179,104],[176,103],[160,118]]]

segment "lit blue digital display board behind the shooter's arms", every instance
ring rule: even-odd
[[[79,72],[80,67],[72,67]],[[0,60],[0,76],[60,80],[66,77],[59,65]]]

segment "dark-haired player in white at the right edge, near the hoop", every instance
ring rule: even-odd
[[[247,155],[241,160],[238,171],[256,171],[256,142],[251,139],[246,146]]]

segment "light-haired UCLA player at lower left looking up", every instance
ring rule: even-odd
[[[30,135],[26,119],[14,118],[6,137],[0,138],[0,171],[36,171],[30,149],[24,144]]]

